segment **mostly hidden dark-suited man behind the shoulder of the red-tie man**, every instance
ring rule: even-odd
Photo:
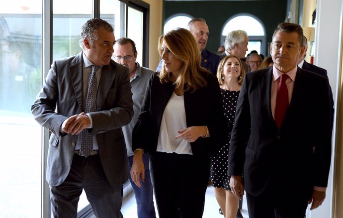
[[[304,43],[304,46],[305,46],[304,55],[299,57],[299,59],[297,61],[298,67],[328,78],[327,70],[325,70],[323,68],[320,68],[320,67],[317,67],[316,65],[310,64],[307,61],[305,61],[304,58],[306,57],[306,51],[307,51],[307,38],[305,36],[303,38],[303,43]],[[334,105],[334,98],[333,98],[331,86],[330,86],[330,101],[331,101],[331,119],[330,120],[331,120],[331,129],[333,129],[333,126],[334,126],[334,114],[335,114],[334,106],[335,105]]]

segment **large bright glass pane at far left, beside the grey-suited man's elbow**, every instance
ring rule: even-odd
[[[41,87],[41,24],[41,0],[1,4],[0,217],[41,213],[41,127],[30,112]]]

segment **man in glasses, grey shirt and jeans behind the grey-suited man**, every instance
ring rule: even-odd
[[[139,63],[136,62],[137,54],[138,52],[136,50],[135,42],[129,38],[119,38],[114,44],[113,58],[117,63],[129,68],[131,90],[133,93],[133,117],[128,125],[122,127],[125,136],[129,172],[133,163],[134,155],[131,141],[132,130],[138,120],[139,111],[143,103],[145,90],[150,76],[154,73],[154,71],[141,67]],[[133,192],[136,197],[138,218],[156,218],[153,201],[153,186],[150,180],[149,158],[149,153],[143,154],[145,181],[141,181],[142,188],[135,185],[131,176],[129,176]]]

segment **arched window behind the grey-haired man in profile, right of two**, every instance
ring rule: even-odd
[[[226,35],[232,30],[242,29],[245,30],[249,37],[248,51],[256,50],[258,54],[267,56],[265,51],[266,45],[266,34],[263,23],[254,15],[251,14],[236,14],[235,16],[228,19],[224,24],[222,31],[222,42],[224,44]]]

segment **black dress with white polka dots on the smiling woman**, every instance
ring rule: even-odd
[[[235,122],[235,113],[238,96],[240,91],[220,90],[223,96],[223,109],[227,124],[231,133]],[[226,139],[218,153],[211,158],[211,179],[212,185],[217,188],[231,190],[229,186],[230,177],[228,176],[229,145],[231,134]]]

